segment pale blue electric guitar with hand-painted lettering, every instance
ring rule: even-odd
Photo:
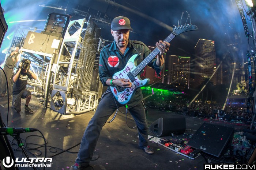
[[[169,36],[167,36],[167,38],[163,41],[170,43],[170,41],[172,41],[174,37],[176,37],[177,35],[183,32],[193,31],[193,30],[197,30],[196,25],[187,24],[187,25],[181,25],[180,27],[175,26],[173,28],[173,32]],[[160,50],[158,48],[155,48],[155,50],[152,51],[138,66],[136,63],[139,55],[135,54],[128,60],[123,70],[116,72],[112,76],[112,79],[124,78],[124,79],[129,79],[130,82],[132,83],[131,88],[124,88],[121,86],[110,86],[110,90],[112,91],[114,97],[117,99],[117,101],[120,104],[127,104],[129,100],[132,98],[133,94],[135,94],[135,91],[138,88],[145,86],[149,82],[148,78],[142,80],[138,74],[159,53],[160,53]]]

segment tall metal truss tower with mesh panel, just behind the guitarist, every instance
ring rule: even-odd
[[[71,30],[76,30],[71,33]],[[61,114],[81,113],[98,106],[102,86],[92,91],[95,60],[102,48],[100,28],[86,19],[70,21],[60,48],[53,80],[50,108]],[[98,67],[98,66],[97,66]],[[95,88],[94,88],[95,89]]]

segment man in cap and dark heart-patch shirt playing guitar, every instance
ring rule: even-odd
[[[127,17],[118,16],[113,19],[111,34],[114,37],[114,41],[101,50],[99,61],[100,80],[103,86],[109,87],[103,94],[97,110],[84,132],[76,163],[70,169],[81,170],[89,166],[103,125],[118,107],[124,106],[124,104],[118,103],[114,98],[114,94],[110,91],[110,86],[132,88],[133,82],[125,78],[112,79],[112,76],[121,70],[123,72],[120,75],[126,74],[131,70],[129,64],[127,64],[131,56],[139,54],[139,64],[151,52],[141,41],[129,40],[130,30],[132,28]],[[170,44],[166,41],[159,41],[156,43],[156,46],[160,52],[157,58],[147,65],[154,68],[157,74],[159,74],[164,63],[163,54],[169,50]],[[153,154],[154,151],[148,146],[148,125],[140,88],[135,91],[135,94],[126,106],[135,120],[138,129],[139,147],[147,154]]]

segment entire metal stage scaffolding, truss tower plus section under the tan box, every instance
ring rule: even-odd
[[[25,38],[30,37],[23,36]],[[84,18],[69,21],[60,49],[55,54],[21,48],[22,58],[31,60],[31,70],[38,77],[28,80],[28,84],[35,95],[44,98],[45,108],[48,107],[48,95],[50,108],[60,114],[97,108],[102,94],[98,76],[99,52],[106,42],[100,37],[100,28],[94,21]]]

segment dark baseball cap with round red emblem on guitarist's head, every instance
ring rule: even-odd
[[[131,29],[130,20],[124,16],[115,17],[111,23],[111,29],[117,31],[119,29]]]

